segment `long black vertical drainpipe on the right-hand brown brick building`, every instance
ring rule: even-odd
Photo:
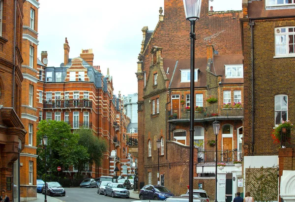
[[[254,28],[254,22],[251,21],[250,19],[250,28],[251,28],[251,102],[252,102],[252,107],[251,107],[251,112],[252,112],[252,146],[251,146],[251,154],[254,154],[254,37],[253,37],[253,28]]]

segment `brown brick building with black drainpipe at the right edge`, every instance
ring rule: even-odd
[[[265,200],[257,197],[259,189],[247,183],[255,168],[269,167],[276,173],[278,166],[280,177],[283,170],[295,170],[295,138],[282,142],[286,148],[279,149],[281,145],[271,137],[283,120],[295,122],[295,2],[243,0],[241,29],[245,78],[244,191],[253,190],[255,200]],[[277,190],[277,186],[271,188],[274,195],[267,196],[268,201],[281,200]]]

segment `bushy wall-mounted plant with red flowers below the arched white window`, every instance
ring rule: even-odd
[[[271,133],[271,137],[273,139],[273,143],[280,144],[282,141],[281,136],[284,141],[290,141],[291,136],[293,134],[294,125],[290,120],[282,121]]]

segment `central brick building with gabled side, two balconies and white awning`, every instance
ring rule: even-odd
[[[142,29],[138,61],[139,186],[166,186],[184,194],[189,184],[190,38],[182,0],[165,0],[154,31]],[[212,122],[220,125],[218,162],[225,162],[224,176],[232,201],[237,185],[233,161],[241,159],[243,118],[243,56],[240,43],[241,11],[213,12],[202,2],[196,22],[194,189],[199,184],[211,200],[215,193],[215,146]],[[214,103],[207,98],[217,98]],[[224,104],[225,103],[225,104]],[[158,150],[156,141],[161,141]],[[159,179],[157,178],[159,151]],[[240,169],[238,169],[240,172]],[[237,177],[237,176],[236,176]],[[224,197],[225,198],[225,197]],[[220,201],[220,200],[218,200]],[[222,200],[221,200],[222,201]]]

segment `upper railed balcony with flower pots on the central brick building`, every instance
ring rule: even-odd
[[[194,112],[194,119],[214,119],[215,116],[218,116],[218,119],[228,119],[228,118],[236,118],[240,119],[244,116],[244,109],[242,105],[239,107],[235,106],[224,106],[224,105],[215,105],[210,107],[201,107],[198,111]],[[182,107],[181,110],[170,110],[168,112],[168,119],[171,121],[176,120],[187,120],[190,119],[190,111],[185,110]]]

